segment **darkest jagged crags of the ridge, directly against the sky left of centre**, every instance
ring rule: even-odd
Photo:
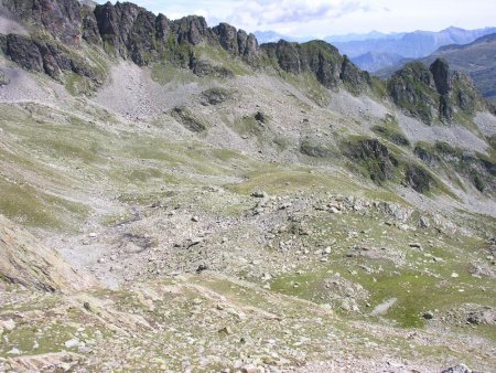
[[[230,54],[247,60],[258,53],[254,35],[237,31],[227,23],[209,29],[202,17],[170,21],[163,14],[155,17],[128,2],[97,6],[94,13],[106,49],[123,58],[131,58],[140,66],[158,61],[166,53],[181,66],[186,67],[187,61],[194,67],[196,65],[188,62],[188,47],[201,43],[218,43]],[[198,71],[205,71],[203,67],[200,66]]]

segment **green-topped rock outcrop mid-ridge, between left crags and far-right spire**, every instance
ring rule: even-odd
[[[310,72],[326,88],[335,89],[341,83],[345,83],[352,92],[358,93],[367,86],[366,74],[326,42],[298,44],[281,40],[278,43],[262,44],[261,49],[277,67],[291,74]]]

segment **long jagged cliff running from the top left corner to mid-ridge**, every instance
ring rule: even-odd
[[[220,45],[247,62],[254,61],[259,50],[254,34],[226,23],[209,29],[202,17],[171,21],[130,2],[107,2],[95,8],[77,0],[3,0],[3,4],[64,44],[78,46],[83,39],[140,66],[174,54],[179,46],[201,43]]]

